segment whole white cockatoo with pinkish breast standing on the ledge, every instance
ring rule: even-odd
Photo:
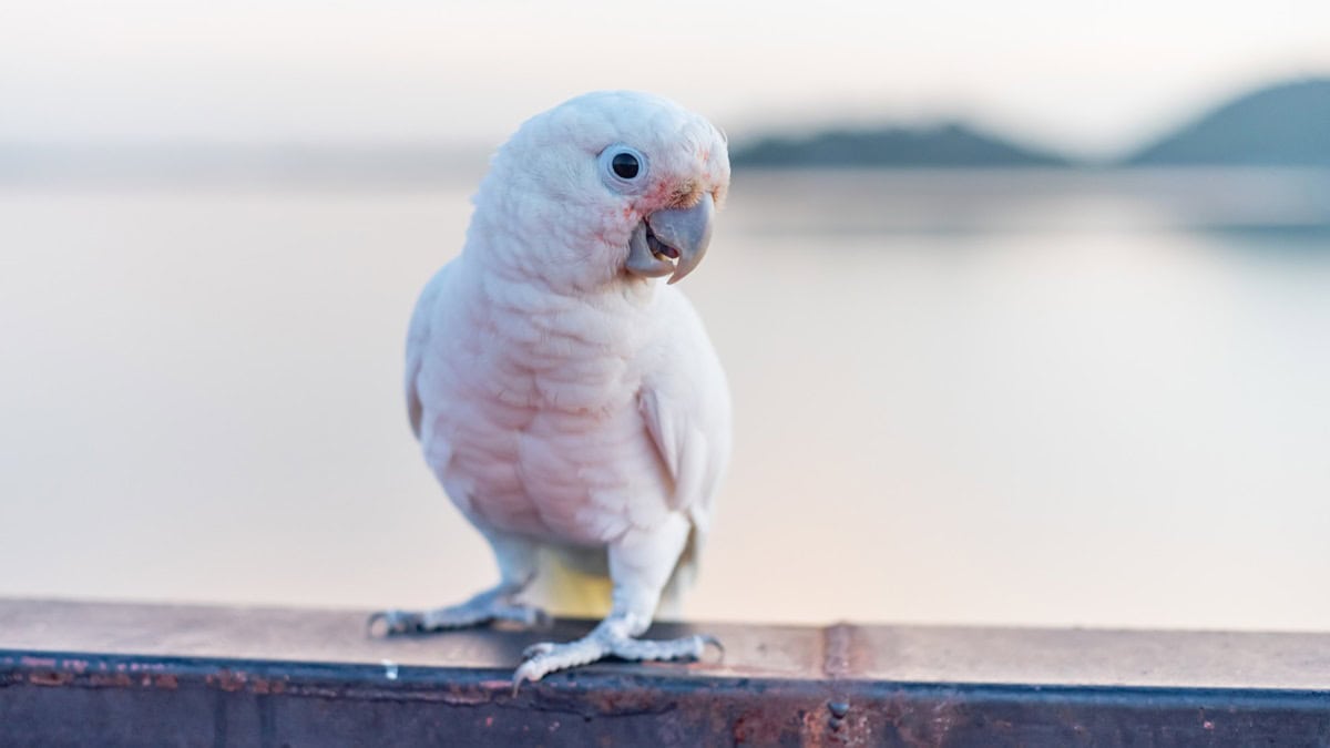
[[[730,453],[725,373],[673,283],[702,261],[729,186],[722,133],[665,98],[580,96],[493,156],[462,254],[426,286],[406,399],[426,462],[484,535],[499,583],[388,634],[544,614],[519,595],[569,559],[610,580],[583,639],[527,650],[515,687],[614,656],[702,656],[638,639],[690,576]],[[669,277],[668,281],[665,277]]]

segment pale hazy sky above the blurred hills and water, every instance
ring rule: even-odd
[[[638,88],[735,137],[963,117],[1108,154],[1325,73],[1323,0],[0,0],[0,142],[493,145]]]

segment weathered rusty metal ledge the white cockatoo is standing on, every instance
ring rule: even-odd
[[[527,684],[464,631],[363,612],[0,599],[0,745],[1214,745],[1330,743],[1330,635],[662,624],[722,663]]]

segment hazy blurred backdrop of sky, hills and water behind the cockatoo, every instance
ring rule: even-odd
[[[3,3],[0,595],[492,583],[400,394],[487,153],[730,136],[700,619],[1330,628],[1330,4]]]

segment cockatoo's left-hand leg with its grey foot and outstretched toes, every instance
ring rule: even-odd
[[[496,620],[507,620],[527,627],[545,626],[545,611],[520,603],[517,595],[536,578],[535,547],[520,538],[485,534],[499,562],[499,584],[472,596],[466,603],[427,611],[380,611],[370,616],[370,634],[391,636],[396,634],[423,634],[467,628]]]

